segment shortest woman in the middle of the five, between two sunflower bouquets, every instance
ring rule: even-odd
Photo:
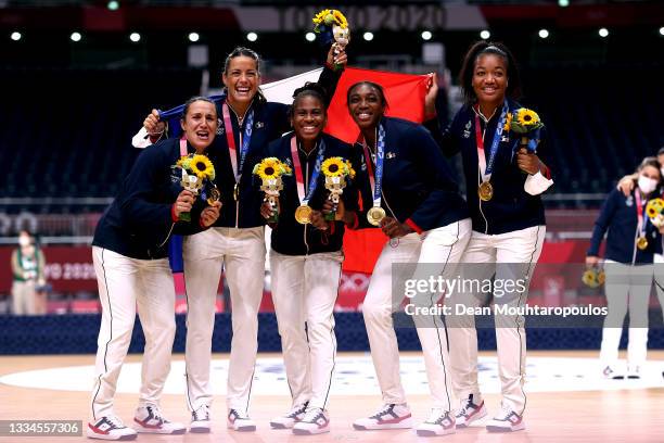
[[[274,174],[277,160],[292,169],[282,176],[278,207],[268,202],[261,207],[266,219],[279,213],[278,221],[270,224],[271,286],[293,398],[291,410],[270,423],[296,434],[317,434],[330,431],[327,406],[336,353],[333,309],[344,260],[344,225],[356,219],[357,154],[352,145],[322,132],[327,100],[317,84],[295,90],[291,122],[293,132],[272,141],[269,159],[256,169],[264,180]],[[334,192],[342,181],[346,186],[336,212],[327,220],[322,208],[330,199],[328,189]]]

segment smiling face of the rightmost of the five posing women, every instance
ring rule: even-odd
[[[507,62],[497,54],[482,54],[473,68],[473,90],[480,104],[500,104],[508,85]]]

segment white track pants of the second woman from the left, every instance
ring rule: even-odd
[[[256,352],[258,308],[265,279],[264,228],[210,228],[183,242],[187,286],[187,405],[191,410],[213,400],[209,383],[215,301],[221,277],[230,288],[233,339],[226,401],[247,414]]]

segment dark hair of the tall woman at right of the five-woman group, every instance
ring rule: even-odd
[[[507,78],[508,86],[506,89],[507,97],[511,99],[519,99],[521,96],[521,76],[519,75],[519,67],[516,60],[512,52],[500,42],[493,41],[477,41],[475,42],[465,53],[463,58],[463,64],[461,65],[461,72],[459,73],[459,83],[463,90],[463,100],[465,104],[471,105],[477,101],[477,96],[473,89],[473,73],[475,71],[475,62],[480,55],[494,54],[502,58],[507,65]]]

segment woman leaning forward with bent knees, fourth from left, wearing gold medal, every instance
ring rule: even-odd
[[[392,313],[406,294],[393,293],[393,264],[413,264],[407,278],[450,278],[471,233],[468,207],[450,167],[431,134],[412,122],[385,116],[387,102],[380,85],[360,81],[348,89],[348,111],[360,129],[367,170],[362,191],[361,227],[380,227],[391,241],[373,268],[362,314],[371,357],[383,395],[375,414],[356,420],[358,430],[412,427],[410,408],[399,376],[399,350]],[[422,265],[420,264],[427,264]],[[425,266],[427,266],[425,268]],[[409,302],[418,307],[438,305],[440,293],[423,291]],[[438,315],[414,315],[432,395],[431,412],[419,435],[455,432],[445,327]]]

